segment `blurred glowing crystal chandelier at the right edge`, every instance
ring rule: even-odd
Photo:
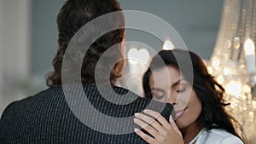
[[[227,111],[240,122],[248,141],[256,137],[255,40],[256,0],[224,0],[207,68],[224,86]]]

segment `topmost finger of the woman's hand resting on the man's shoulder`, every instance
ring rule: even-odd
[[[155,111],[148,110],[148,109],[144,110],[143,112],[145,114],[147,114],[148,116],[155,118],[166,129],[171,128],[171,125],[169,124],[169,122],[159,112],[155,112]]]

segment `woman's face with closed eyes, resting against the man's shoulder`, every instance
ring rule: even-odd
[[[172,66],[152,72],[149,87],[155,101],[168,102],[174,106],[179,129],[195,124],[201,114],[201,101],[192,85]]]

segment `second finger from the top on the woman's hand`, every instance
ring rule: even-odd
[[[135,117],[142,119],[147,124],[150,124],[155,130],[162,131],[163,127],[154,118],[148,117],[143,113],[135,113]]]

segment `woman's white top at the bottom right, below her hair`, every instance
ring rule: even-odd
[[[195,144],[243,144],[243,142],[226,130],[203,130]]]

